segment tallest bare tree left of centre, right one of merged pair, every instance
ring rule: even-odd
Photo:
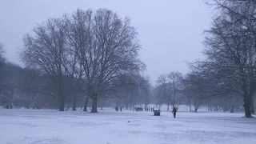
[[[77,10],[69,23],[69,44],[82,65],[84,92],[93,99],[91,112],[97,113],[99,97],[107,97],[116,87],[119,74],[139,70],[138,38],[129,18],[119,18],[110,10]]]

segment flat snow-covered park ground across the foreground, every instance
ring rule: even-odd
[[[0,144],[256,143],[256,118],[243,114],[98,111],[0,109]]]

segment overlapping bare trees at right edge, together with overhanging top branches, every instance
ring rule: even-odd
[[[193,70],[214,82],[214,89],[241,96],[250,118],[256,86],[256,3],[214,0],[211,5],[217,13],[205,32],[206,60],[194,63]]]

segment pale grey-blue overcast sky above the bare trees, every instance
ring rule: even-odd
[[[142,44],[140,57],[151,81],[160,74],[189,68],[185,61],[202,58],[202,31],[210,27],[210,10],[202,0],[0,0],[0,42],[6,58],[18,58],[22,36],[38,22],[78,8],[108,8],[131,18]]]

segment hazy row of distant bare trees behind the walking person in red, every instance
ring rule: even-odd
[[[242,98],[238,94],[195,72],[186,75],[179,72],[162,74],[156,83],[153,90],[154,102],[159,106],[166,104],[167,110],[170,110],[170,106],[185,105],[194,112],[199,107],[206,107],[209,111],[242,111]]]

